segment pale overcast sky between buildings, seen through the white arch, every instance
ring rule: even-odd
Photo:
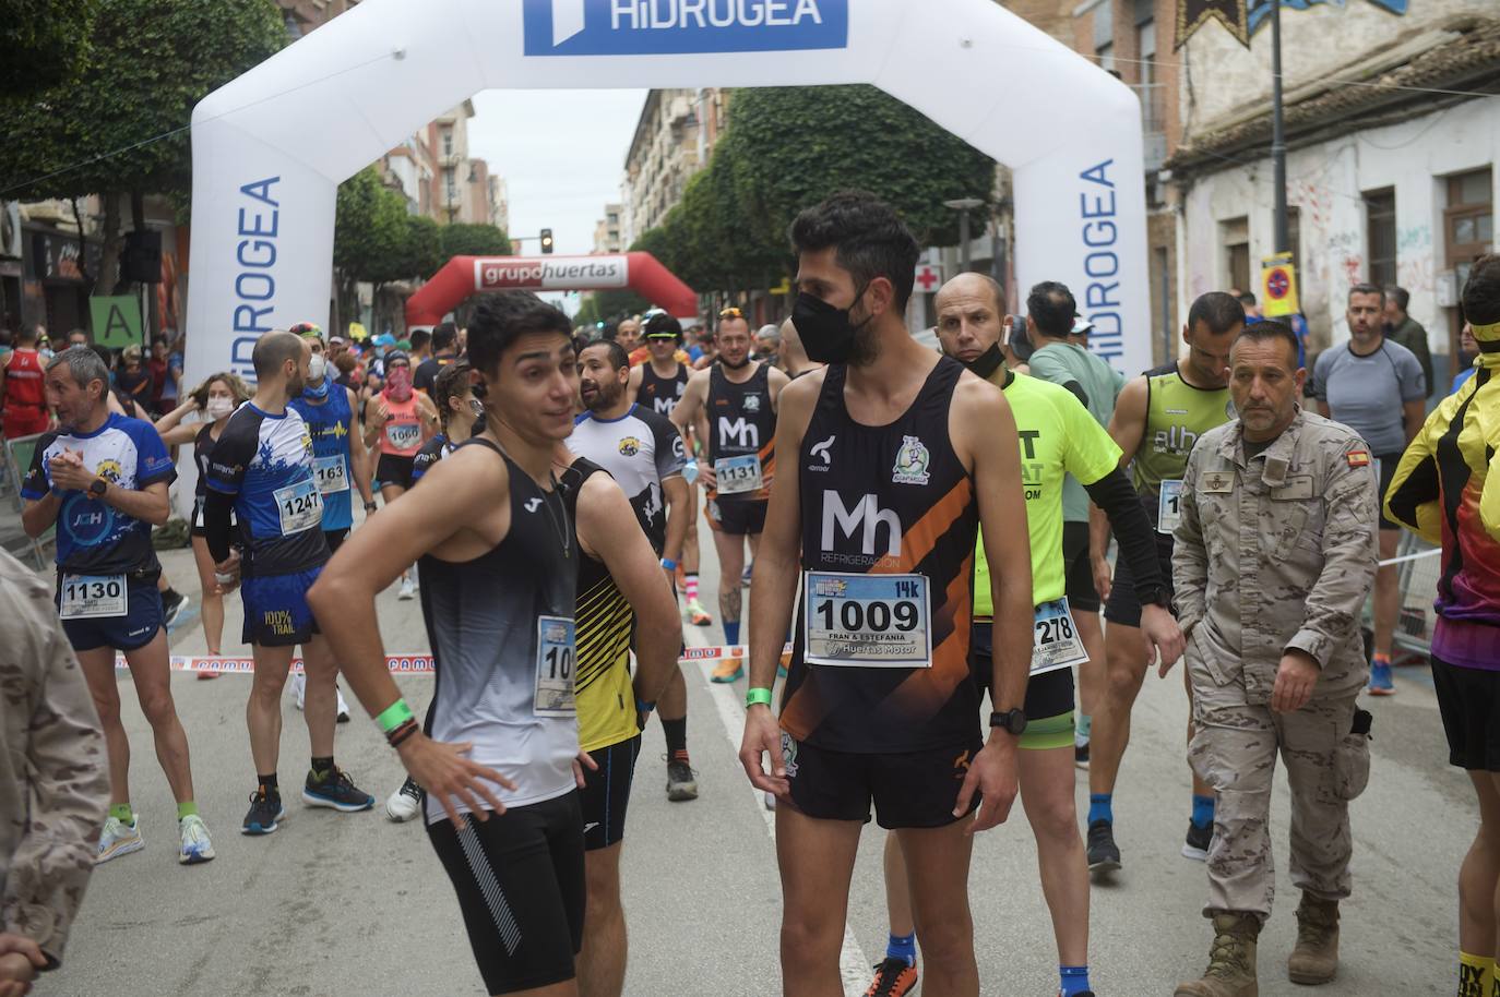
[[[510,184],[510,234],[550,228],[560,253],[594,249],[604,204],[620,201],[645,90],[486,90],[474,97],[470,156]],[[520,243],[525,255],[536,241]]]

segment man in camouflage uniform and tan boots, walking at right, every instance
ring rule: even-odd
[[[1376,576],[1376,477],[1364,441],[1304,412],[1296,334],[1246,325],[1230,352],[1239,418],[1188,457],[1173,579],[1188,634],[1196,733],[1188,759],[1218,795],[1209,847],[1214,946],[1178,997],[1257,993],[1256,939],[1270,916],[1270,777],[1292,786],[1292,882],[1302,889],[1287,972],[1338,969],[1348,897],[1348,801],[1370,777],[1360,612]],[[1358,718],[1356,718],[1358,714]]]

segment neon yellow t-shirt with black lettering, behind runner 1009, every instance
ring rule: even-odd
[[[1032,603],[1041,606],[1066,592],[1062,565],[1064,474],[1094,484],[1119,466],[1120,448],[1066,388],[1023,373],[1011,375],[1011,382],[1005,384],[1006,373],[1000,367],[990,382],[1005,388],[1020,436],[1026,529],[1032,550]],[[974,616],[994,616],[982,535],[974,558]]]

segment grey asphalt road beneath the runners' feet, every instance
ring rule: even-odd
[[[700,531],[705,546],[706,526]],[[714,603],[712,550],[705,549],[704,603]],[[189,552],[164,558],[184,592],[195,591]],[[426,651],[417,601],[394,589],[380,600],[392,652]],[[717,618],[717,612],[716,612]],[[238,597],[230,598],[225,652],[236,649]],[[686,628],[690,643],[718,643],[718,627]],[[198,624],[174,637],[178,654],[201,654]],[[632,958],[630,996],[750,996],[777,993],[780,889],[766,811],[735,751],[744,684],[711,687],[706,666],[688,678],[688,744],[700,798],[666,801],[663,742],[652,723],[638,769],[624,850],[624,900]],[[1426,996],[1452,991],[1458,862],[1478,823],[1464,775],[1444,765],[1446,747],[1425,669],[1398,672],[1400,696],[1374,700],[1370,789],[1353,805],[1354,897],[1342,909],[1342,966],[1323,994]],[[122,673],[122,684],[129,678]],[[402,678],[408,700],[428,702],[430,678]],[[244,676],[174,679],[194,753],[198,802],[218,859],[178,867],[174,807],[150,748],[150,733],[123,690],[135,748],[134,802],[146,850],[94,874],[62,970],[40,994],[112,997],[276,994],[482,994],[447,877],[418,825],[374,813],[306,808],[288,795],[290,816],[267,838],[238,823],[254,789],[244,733]],[[1170,994],[1208,957],[1203,865],[1179,856],[1188,814],[1182,730],[1186,699],[1176,673],[1152,678],[1136,711],[1136,739],[1116,792],[1116,837],[1125,868],[1092,898],[1095,990],[1102,996]],[[308,741],[294,703],[285,705],[284,783],[302,778]],[[399,762],[374,723],[356,715],[338,735],[338,759],[381,801],[402,781]],[[1088,781],[1078,774],[1080,814]],[[1274,804],[1280,894],[1262,934],[1263,997],[1304,994],[1287,982],[1296,891],[1287,867],[1287,795]],[[850,993],[861,966],[884,952],[882,832],[866,835],[855,873],[844,964]],[[1010,823],[981,835],[970,876],[978,960],[986,994],[1050,997],[1056,951],[1032,835],[1016,808]]]

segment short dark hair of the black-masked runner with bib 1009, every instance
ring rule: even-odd
[[[792,222],[790,237],[796,253],[832,246],[834,259],[854,277],[856,292],[885,277],[894,288],[896,307],[906,309],[921,247],[896,208],[873,193],[840,190],[806,208]]]

